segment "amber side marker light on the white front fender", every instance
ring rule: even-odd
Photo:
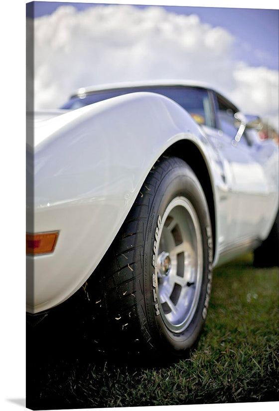
[[[48,254],[54,251],[58,238],[58,231],[39,232],[31,234],[26,232],[26,254]]]

